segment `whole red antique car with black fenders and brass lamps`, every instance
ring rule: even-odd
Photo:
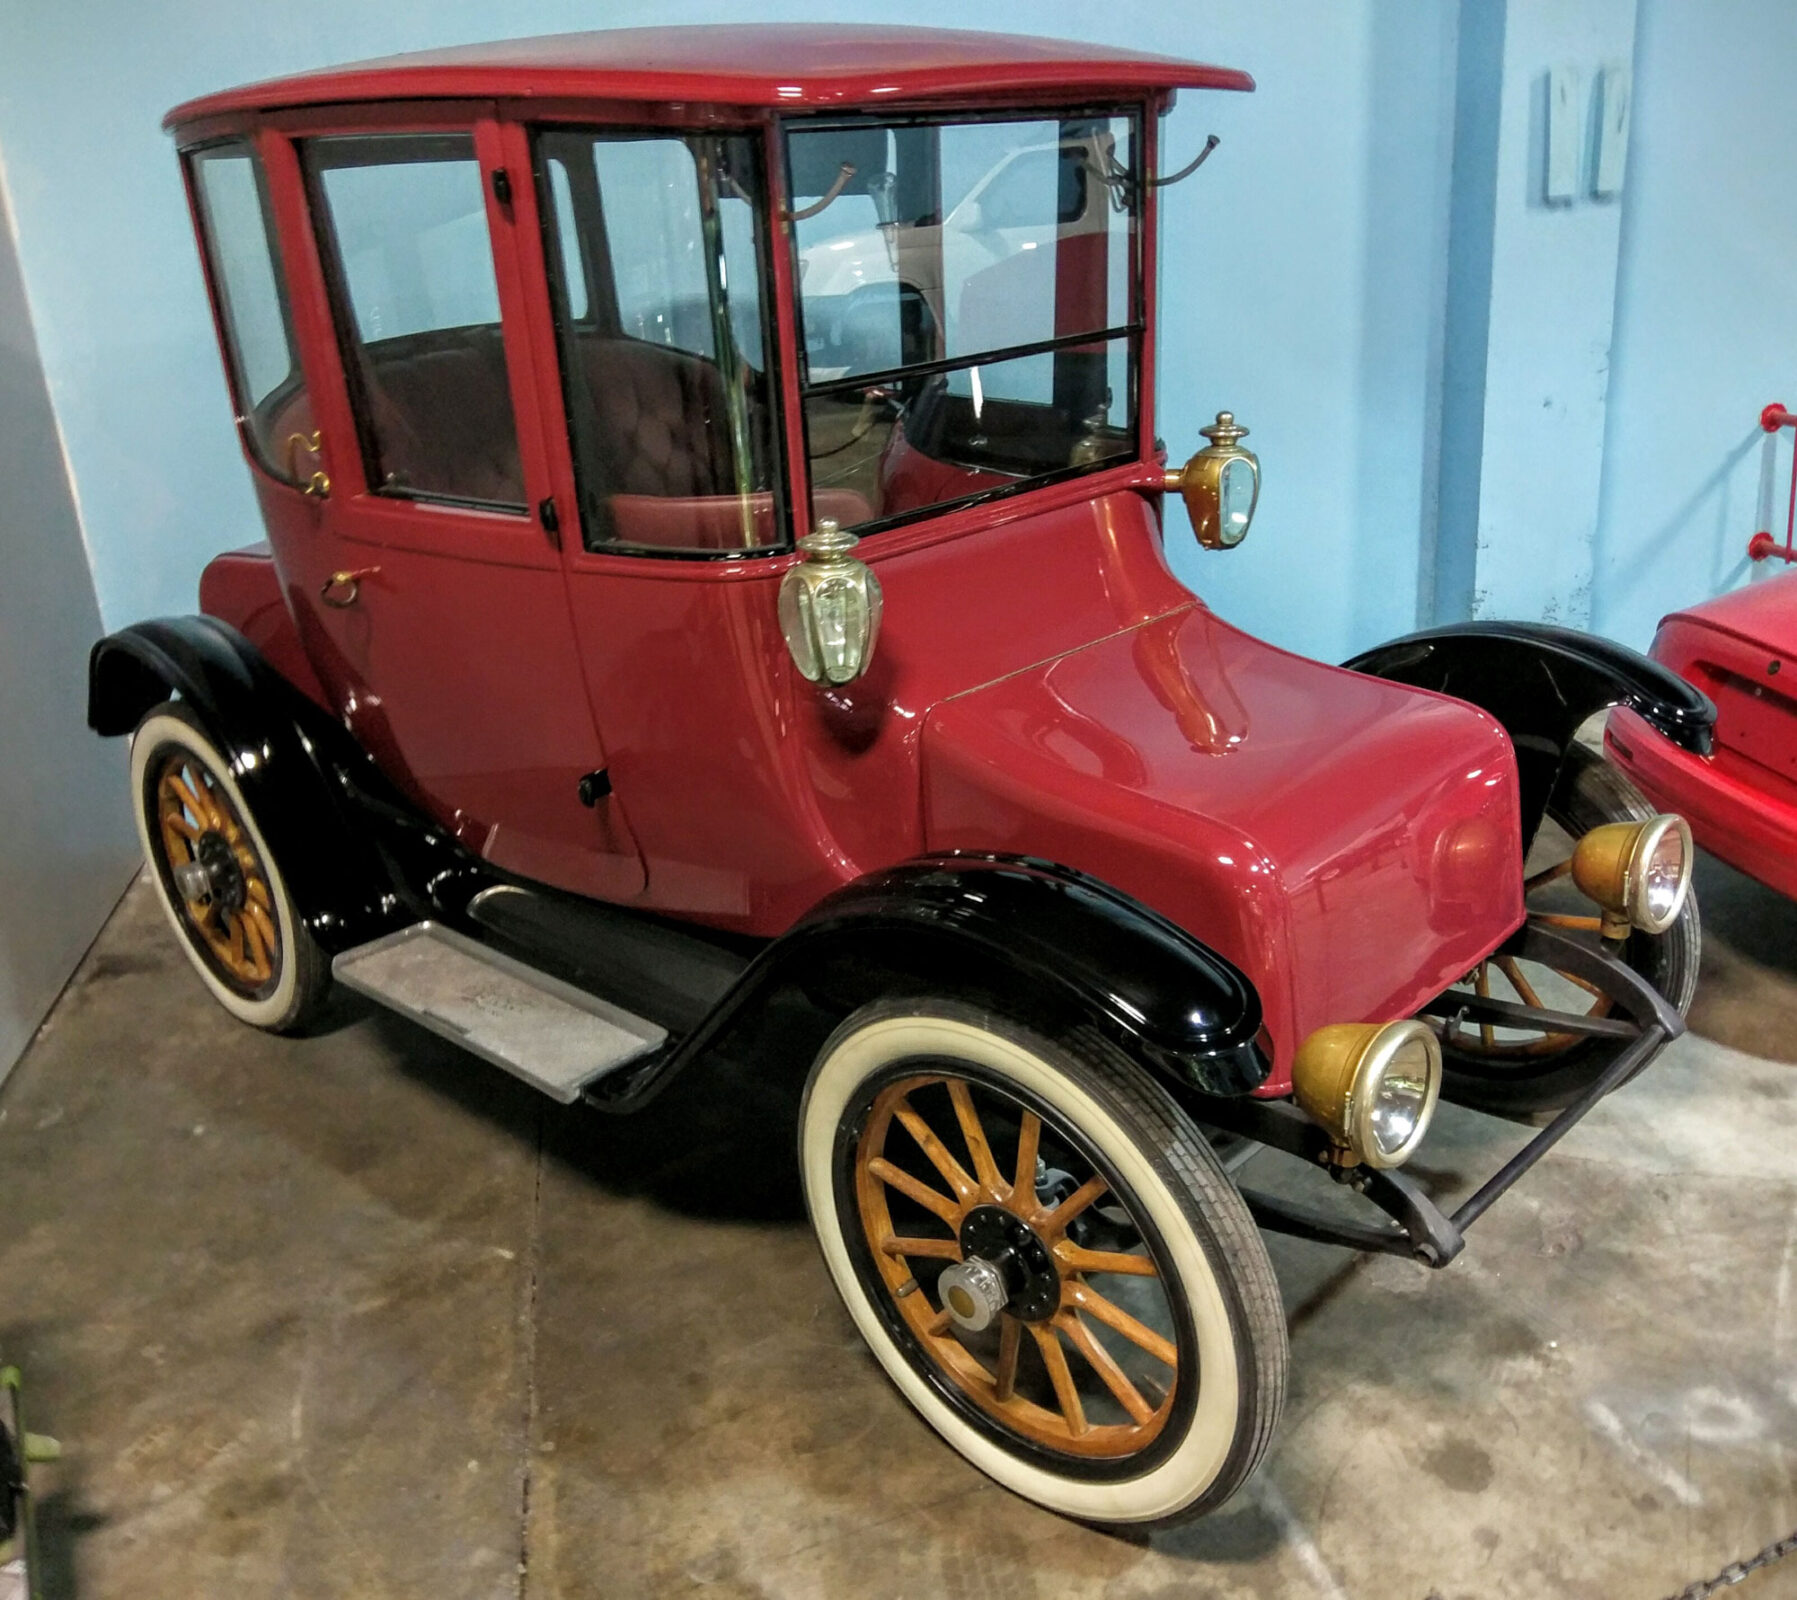
[[[1704,750],[1691,685],[1520,624],[1323,665],[1172,575],[1168,493],[1229,547],[1258,464],[1155,439],[1161,115],[1247,88],[748,27],[181,106],[268,543],[92,667],[228,1010],[338,980],[613,1113],[760,1052],[895,1384],[1098,1523],[1265,1451],[1258,1228],[1447,1264],[1696,976],[1684,823],[1574,741]],[[1556,1115],[1445,1213],[1438,1095]]]

